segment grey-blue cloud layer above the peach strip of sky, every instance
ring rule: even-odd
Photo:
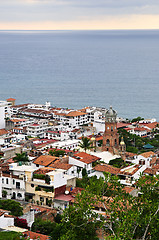
[[[98,20],[104,16],[159,14],[158,0],[0,0],[0,21]]]

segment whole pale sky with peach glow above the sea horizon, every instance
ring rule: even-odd
[[[159,29],[159,0],[0,0],[0,30]]]

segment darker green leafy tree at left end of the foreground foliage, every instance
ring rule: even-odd
[[[82,191],[76,196],[74,205],[64,211],[62,223],[66,232],[60,239],[69,239],[69,236],[73,240],[98,239],[95,232],[100,222],[97,220],[98,214],[93,211],[96,201],[89,191]]]

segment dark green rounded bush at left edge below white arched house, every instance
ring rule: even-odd
[[[0,200],[0,208],[10,211],[13,216],[18,217],[23,215],[23,208],[20,203],[11,199]]]

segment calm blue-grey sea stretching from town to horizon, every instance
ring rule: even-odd
[[[0,31],[0,100],[159,120],[159,31]]]

